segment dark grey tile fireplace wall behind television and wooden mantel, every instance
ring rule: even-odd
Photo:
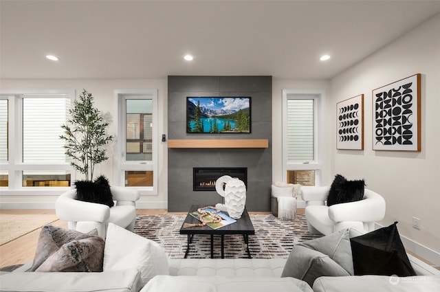
[[[252,132],[186,133],[188,96],[250,96]],[[215,188],[194,190],[193,168],[247,168],[246,210],[270,211],[272,76],[168,76],[167,106],[168,139],[267,139],[269,145],[268,148],[168,148],[168,212],[188,212],[191,205],[221,203],[223,197]]]

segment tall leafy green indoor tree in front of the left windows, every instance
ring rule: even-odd
[[[79,100],[74,101],[74,108],[69,109],[70,118],[63,124],[65,135],[65,154],[71,158],[70,164],[85,175],[85,179],[93,180],[96,164],[109,159],[105,154],[105,146],[112,139],[105,130],[109,123],[98,109],[94,108],[94,97],[83,89]]]

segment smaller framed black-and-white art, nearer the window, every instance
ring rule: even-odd
[[[364,150],[364,95],[336,104],[337,149]]]

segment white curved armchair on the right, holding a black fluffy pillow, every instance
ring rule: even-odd
[[[385,200],[372,190],[364,190],[364,199],[326,205],[330,187],[303,188],[305,218],[312,234],[331,234],[348,227],[362,233],[374,230],[374,223],[385,216]]]

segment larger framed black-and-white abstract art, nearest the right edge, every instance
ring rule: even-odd
[[[421,74],[373,90],[373,150],[420,151]]]

